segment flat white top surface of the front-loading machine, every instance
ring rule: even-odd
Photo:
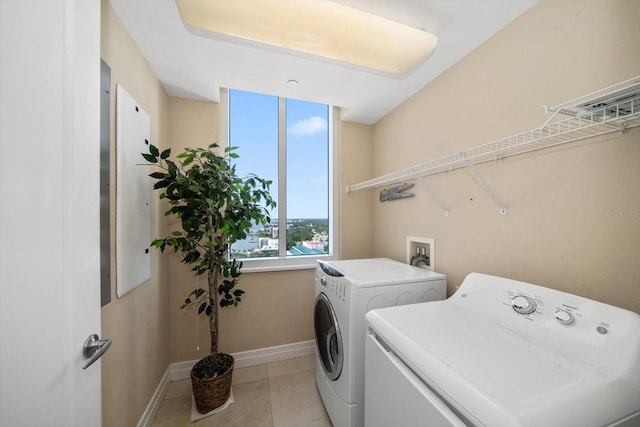
[[[324,262],[339,270],[356,286],[383,286],[444,279],[445,276],[388,258],[368,258]]]

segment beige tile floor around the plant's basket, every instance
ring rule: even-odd
[[[234,403],[191,423],[191,381],[171,383],[152,427],[331,427],[313,355],[234,369]]]

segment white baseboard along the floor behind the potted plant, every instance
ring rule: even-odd
[[[235,368],[246,368],[248,366],[260,365],[262,363],[277,362],[279,360],[293,359],[295,357],[308,356],[315,352],[315,341],[301,341],[293,344],[278,345],[275,347],[260,348],[257,350],[241,351],[233,353]],[[153,417],[160,408],[160,403],[164,398],[167,389],[172,381],[189,378],[191,367],[197,360],[187,362],[172,363],[162,376],[151,401],[147,405],[138,427],[148,427],[153,421]]]

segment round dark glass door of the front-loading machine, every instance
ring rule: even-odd
[[[327,377],[335,381],[342,373],[344,359],[340,325],[329,298],[320,293],[314,309],[316,348]]]

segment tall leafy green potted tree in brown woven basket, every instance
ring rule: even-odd
[[[207,413],[226,402],[231,391],[233,357],[218,351],[218,306],[237,306],[244,291],[236,288],[242,262],[229,259],[228,250],[244,239],[255,224],[271,222],[269,209],[276,203],[269,194],[271,181],[256,175],[239,177],[229,160],[237,158],[236,147],[224,149],[187,148],[170,160],[171,149],[162,152],[153,145],[142,156],[160,170],[149,176],[160,199],[170,207],[166,216],[180,220],[181,230],[155,239],[151,246],[164,252],[180,253],[182,262],[192,266],[195,275],[207,274],[208,287],[194,289],[182,308],[196,306],[209,317],[211,350],[191,370],[191,382],[200,413]]]

